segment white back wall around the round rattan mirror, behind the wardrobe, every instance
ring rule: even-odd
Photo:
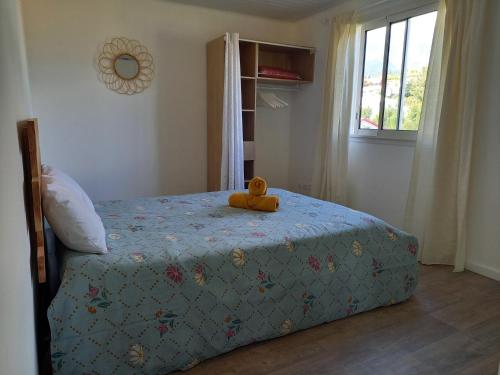
[[[293,35],[292,23],[158,0],[23,5],[42,158],[97,200],[206,190],[206,42],[226,31],[282,42]],[[156,78],[144,93],[118,95],[98,81],[93,59],[113,36],[138,39],[153,54]],[[287,114],[273,121],[289,124]],[[258,126],[261,138],[275,129]],[[280,143],[283,155],[288,146]],[[280,185],[288,178],[282,161],[276,174],[262,168]]]

